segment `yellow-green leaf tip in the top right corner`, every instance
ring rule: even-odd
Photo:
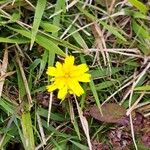
[[[146,5],[144,5],[140,1],[138,0],[128,0],[128,1],[142,13],[146,13],[148,11],[148,8],[146,7]]]

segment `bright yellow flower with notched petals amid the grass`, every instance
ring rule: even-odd
[[[58,89],[58,98],[64,100],[67,93],[80,96],[84,93],[79,82],[90,82],[91,75],[86,64],[74,65],[74,57],[67,56],[64,63],[56,62],[56,67],[48,67],[47,74],[54,76],[47,86],[48,92]]]

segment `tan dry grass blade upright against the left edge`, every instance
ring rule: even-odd
[[[0,97],[2,96],[2,91],[3,91],[3,85],[5,82],[5,75],[7,71],[7,65],[8,65],[8,50],[7,48],[5,49],[4,52],[4,57],[2,61],[2,65],[0,66]]]

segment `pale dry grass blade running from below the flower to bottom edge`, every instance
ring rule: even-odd
[[[84,131],[84,133],[86,135],[86,138],[87,138],[87,143],[88,143],[88,146],[89,146],[89,150],[92,150],[92,144],[91,144],[91,141],[90,141],[88,122],[87,122],[86,118],[83,116],[83,112],[82,112],[82,110],[81,110],[81,108],[78,104],[76,96],[74,96],[74,98],[75,98],[79,118],[80,118],[80,121],[81,121],[81,124],[82,124],[82,127],[83,127],[83,131]]]

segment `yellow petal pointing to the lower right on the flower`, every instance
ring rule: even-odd
[[[77,96],[80,96],[84,93],[83,88],[77,80],[70,79],[70,81],[68,82],[68,86],[70,90]]]

